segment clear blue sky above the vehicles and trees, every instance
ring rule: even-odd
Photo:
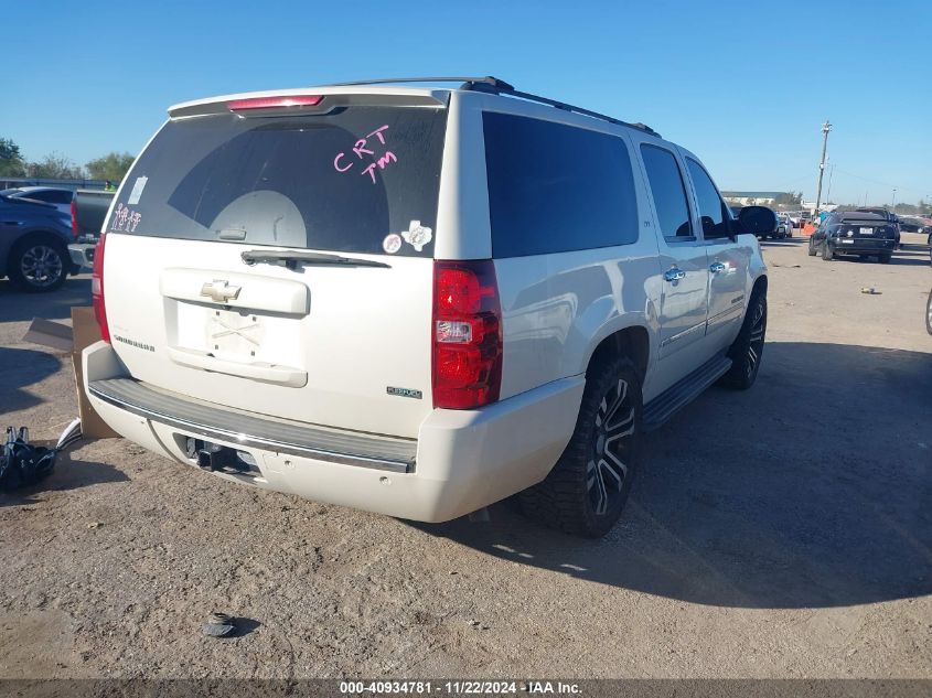
[[[403,8],[403,9],[396,9]],[[396,75],[486,75],[643,121],[721,189],[932,198],[932,3],[9,2],[0,137],[136,154],[165,107]],[[828,178],[826,176],[826,189]]]

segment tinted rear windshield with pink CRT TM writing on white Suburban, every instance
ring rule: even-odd
[[[446,110],[169,121],[108,229],[326,251],[433,254]]]

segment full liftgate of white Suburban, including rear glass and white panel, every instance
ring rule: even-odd
[[[446,109],[329,100],[162,128],[106,223],[113,345],[156,388],[414,438],[432,409]]]

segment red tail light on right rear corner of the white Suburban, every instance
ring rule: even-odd
[[[502,386],[502,307],[491,259],[433,262],[433,406],[495,402]]]

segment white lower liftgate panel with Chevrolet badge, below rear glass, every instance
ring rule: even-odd
[[[129,373],[250,412],[417,437],[431,409],[432,261],[291,271],[246,266],[242,251],[108,234],[107,316]],[[215,302],[205,284],[237,298]]]

